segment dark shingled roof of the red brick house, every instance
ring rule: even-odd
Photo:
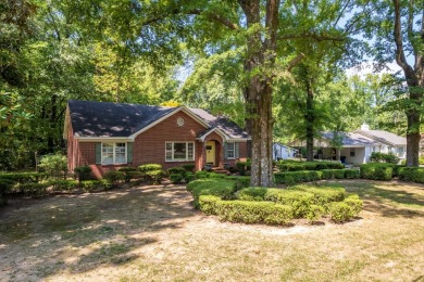
[[[205,128],[209,126],[205,131],[220,129],[230,139],[249,138],[235,123],[223,117],[215,117],[201,108],[68,101],[68,113],[74,134],[84,138],[127,138],[180,110],[188,111],[188,114],[192,115],[195,119],[199,119],[198,121]]]

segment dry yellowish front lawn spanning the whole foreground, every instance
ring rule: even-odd
[[[220,222],[172,185],[12,201],[0,281],[423,281],[424,187],[338,182],[364,200],[346,225]]]

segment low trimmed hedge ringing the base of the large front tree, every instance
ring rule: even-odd
[[[285,225],[291,218],[314,221],[328,213],[334,221],[344,222],[362,208],[358,195],[346,197],[339,185],[245,188],[237,192],[234,180],[204,178],[188,183],[187,190],[194,194],[197,208],[232,222]]]

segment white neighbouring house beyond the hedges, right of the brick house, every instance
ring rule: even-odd
[[[384,130],[370,130],[367,125],[353,132],[342,133],[341,148],[332,149],[332,132],[324,132],[319,141],[320,155],[326,159],[340,159],[345,164],[366,164],[373,152],[392,153],[400,159],[406,157],[407,139]]]

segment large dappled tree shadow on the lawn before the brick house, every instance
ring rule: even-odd
[[[18,260],[17,244],[21,256],[37,257],[29,264],[39,278],[123,265],[138,258],[133,251],[155,243],[157,232],[195,216],[191,200],[184,187],[141,187],[12,204],[0,214],[1,252]]]

